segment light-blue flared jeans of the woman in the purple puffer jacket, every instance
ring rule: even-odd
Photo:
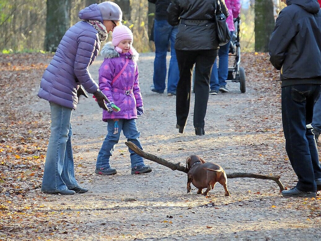
[[[74,175],[74,157],[71,147],[72,109],[50,103],[51,134],[47,148],[41,190],[60,192],[77,187]]]

